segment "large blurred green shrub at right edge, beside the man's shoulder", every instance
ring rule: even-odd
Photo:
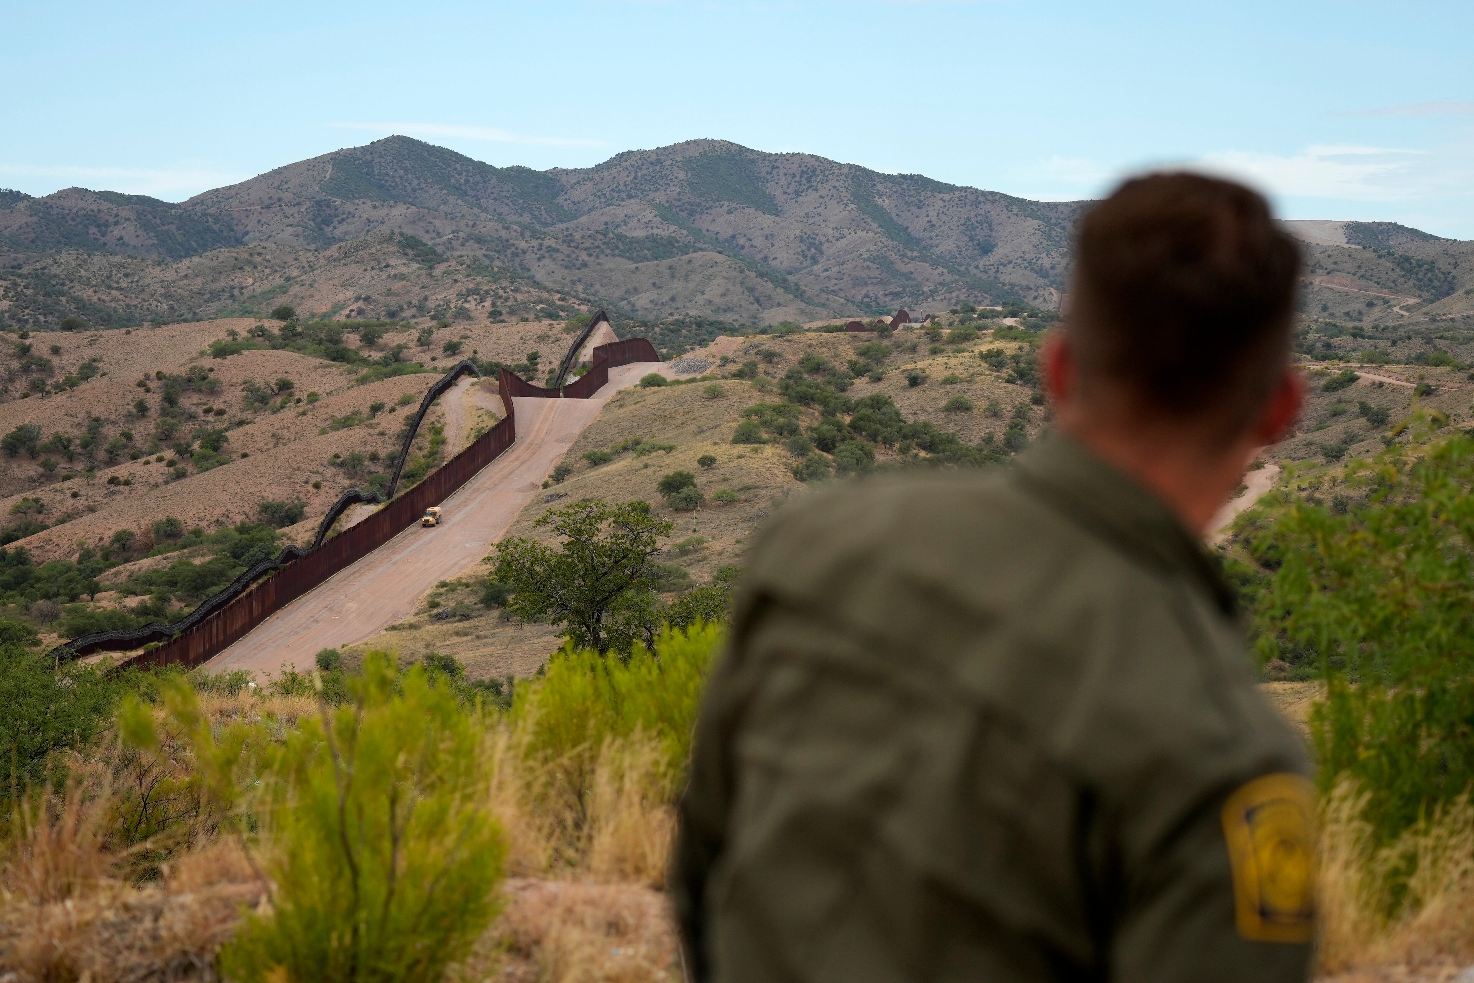
[[[1316,653],[1318,781],[1355,781],[1387,843],[1474,784],[1474,441],[1349,467],[1369,486],[1365,506],[1297,503],[1256,544],[1279,564],[1256,644],[1262,657],[1281,640]]]

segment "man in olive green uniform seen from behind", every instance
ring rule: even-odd
[[[1307,762],[1200,545],[1299,414],[1297,276],[1253,192],[1129,181],[1080,227],[1051,436],[768,526],[680,811],[696,980],[1306,977]]]

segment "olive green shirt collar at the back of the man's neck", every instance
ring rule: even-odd
[[[1234,591],[1166,503],[1079,442],[1051,433],[1019,457],[1016,475],[1092,534],[1139,562],[1188,578],[1225,615],[1234,615]]]

